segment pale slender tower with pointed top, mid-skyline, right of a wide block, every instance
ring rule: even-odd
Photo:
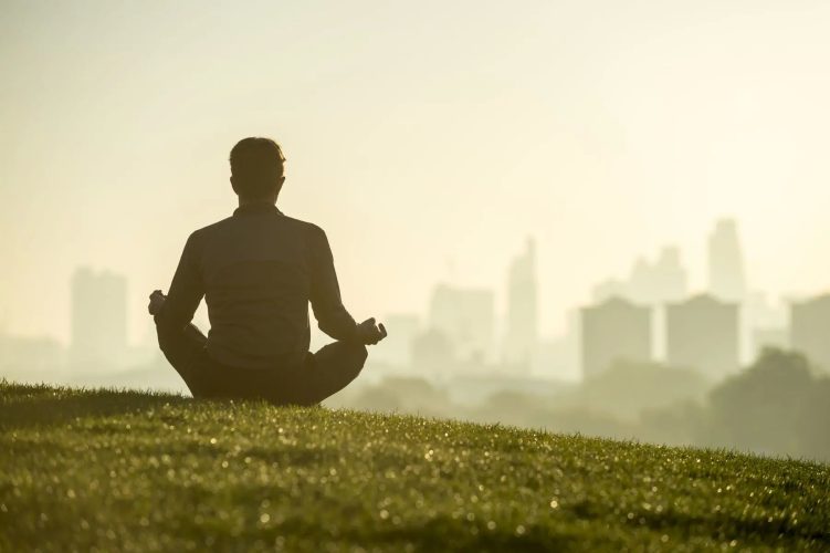
[[[529,371],[536,356],[539,328],[536,286],[536,248],[527,240],[525,252],[513,260],[507,274],[505,364]]]

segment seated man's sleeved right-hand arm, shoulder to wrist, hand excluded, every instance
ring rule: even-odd
[[[314,227],[309,239],[311,302],[319,330],[335,340],[359,340],[357,323],[340,299],[334,257],[323,229]]]

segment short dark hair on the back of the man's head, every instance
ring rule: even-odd
[[[237,194],[263,198],[285,175],[285,156],[271,138],[243,138],[231,149],[231,175]]]

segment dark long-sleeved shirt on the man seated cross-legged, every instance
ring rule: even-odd
[[[240,207],[190,234],[156,315],[159,340],[208,304],[208,355],[231,367],[279,369],[308,353],[308,303],[335,340],[357,336],[343,305],[328,239],[319,227],[272,204]]]

